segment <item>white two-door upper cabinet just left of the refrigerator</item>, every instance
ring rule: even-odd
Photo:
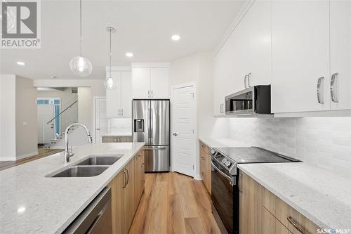
[[[131,117],[131,72],[114,71],[111,75],[117,87],[106,90],[106,116]]]

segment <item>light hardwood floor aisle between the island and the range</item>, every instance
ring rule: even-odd
[[[211,197],[202,181],[182,174],[145,174],[130,234],[220,233],[211,213]]]

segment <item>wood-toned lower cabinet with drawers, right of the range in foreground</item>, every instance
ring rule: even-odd
[[[239,233],[317,233],[317,225],[242,172],[239,190]]]

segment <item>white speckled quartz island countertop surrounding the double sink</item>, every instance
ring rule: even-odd
[[[100,143],[63,152],[0,171],[0,233],[61,233],[143,148],[144,143]],[[93,177],[51,178],[88,155],[124,154]]]

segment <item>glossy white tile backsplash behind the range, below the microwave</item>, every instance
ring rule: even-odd
[[[351,176],[351,117],[232,118],[229,136]]]

